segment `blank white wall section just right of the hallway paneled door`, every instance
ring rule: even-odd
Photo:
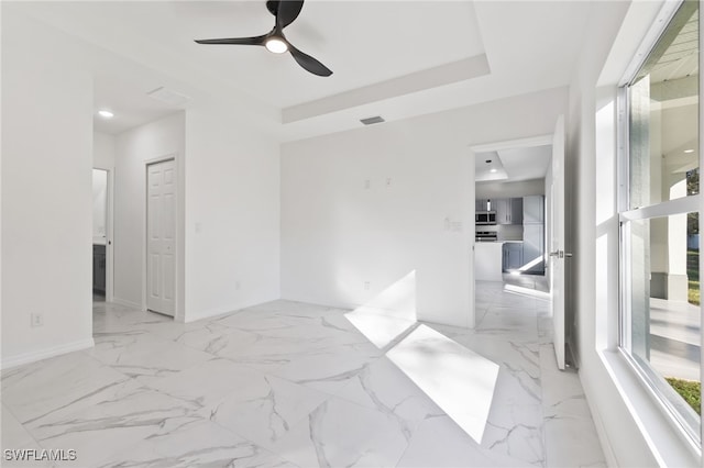
[[[186,113],[186,321],[280,297],[279,145],[243,109]]]

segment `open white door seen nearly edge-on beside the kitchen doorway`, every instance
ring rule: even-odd
[[[550,293],[552,296],[553,343],[558,367],[564,369],[564,116],[552,136],[552,209],[550,210]]]

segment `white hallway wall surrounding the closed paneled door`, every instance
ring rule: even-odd
[[[185,151],[183,112],[132,129],[117,136],[114,154],[114,301],[133,307],[144,303],[146,245],[146,164],[158,158],[176,159],[183,181]],[[179,183],[179,188],[183,183]],[[177,192],[177,289],[176,317],[184,313],[183,190]]]

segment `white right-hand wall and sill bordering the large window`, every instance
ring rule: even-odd
[[[580,379],[609,466],[701,463],[617,350],[616,85],[659,8],[656,2],[613,2],[593,10],[570,89],[566,181],[573,218],[568,225],[573,225],[576,293],[568,308],[576,314]]]

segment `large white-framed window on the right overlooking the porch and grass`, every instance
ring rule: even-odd
[[[701,444],[698,2],[683,1],[622,89],[620,347]]]

